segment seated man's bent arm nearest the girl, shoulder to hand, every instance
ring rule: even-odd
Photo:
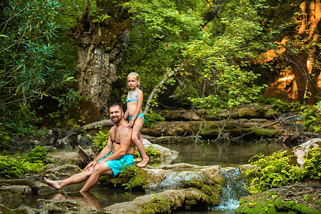
[[[125,156],[130,143],[132,141],[132,128],[123,127],[120,131],[120,148],[117,151],[113,151],[112,154],[103,161],[117,160]]]

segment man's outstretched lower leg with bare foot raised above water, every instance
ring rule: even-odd
[[[56,190],[60,190],[65,185],[73,184],[73,183],[81,183],[84,180],[87,180],[89,176],[93,173],[93,168],[90,168],[90,170],[83,170],[81,173],[75,174],[69,178],[65,178],[63,180],[49,180],[47,178],[45,179],[45,182],[47,185],[51,186],[52,188],[55,188]]]

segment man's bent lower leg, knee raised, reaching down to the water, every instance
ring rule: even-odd
[[[95,166],[93,173],[91,173],[85,185],[83,185],[83,188],[81,188],[80,193],[87,192],[93,188],[93,186],[98,182],[100,175],[114,175],[114,173],[112,173],[112,170],[106,163],[99,163]]]

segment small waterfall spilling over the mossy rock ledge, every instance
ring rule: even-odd
[[[239,168],[222,168],[220,173],[225,178],[225,183],[220,203],[214,210],[234,213],[239,205],[238,200],[242,196],[248,195],[248,191],[244,188],[245,180],[242,178]]]

